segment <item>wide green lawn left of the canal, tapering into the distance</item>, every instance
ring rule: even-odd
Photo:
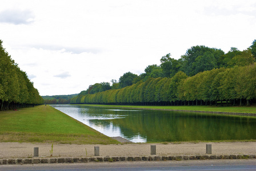
[[[49,105],[1,111],[0,118],[0,142],[118,143]]]

